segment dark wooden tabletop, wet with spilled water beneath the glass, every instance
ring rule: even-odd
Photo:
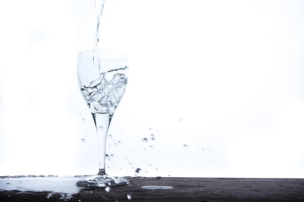
[[[84,188],[70,196],[54,192],[50,196],[50,191],[8,191],[0,187],[0,202],[304,202],[304,179],[157,177],[129,180],[129,184],[111,187],[109,192],[105,188]],[[128,195],[131,198],[128,199]]]

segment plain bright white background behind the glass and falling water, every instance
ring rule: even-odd
[[[0,0],[0,176],[98,171],[76,78],[94,12]],[[303,13],[302,0],[106,0],[100,47],[130,68],[107,172],[304,178]]]

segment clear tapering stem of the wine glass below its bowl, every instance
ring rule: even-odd
[[[96,125],[98,144],[99,144],[99,175],[106,175],[105,173],[105,142],[109,125],[114,113],[93,113],[92,116]]]

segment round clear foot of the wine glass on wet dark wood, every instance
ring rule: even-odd
[[[108,175],[93,175],[84,179],[78,180],[76,186],[83,187],[106,187],[106,186],[119,186],[124,185],[128,181],[121,177],[110,177]]]

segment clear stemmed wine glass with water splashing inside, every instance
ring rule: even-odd
[[[85,50],[78,54],[77,77],[99,140],[99,172],[77,181],[77,186],[118,186],[127,183],[105,172],[105,141],[109,125],[128,81],[126,54],[116,50]]]

